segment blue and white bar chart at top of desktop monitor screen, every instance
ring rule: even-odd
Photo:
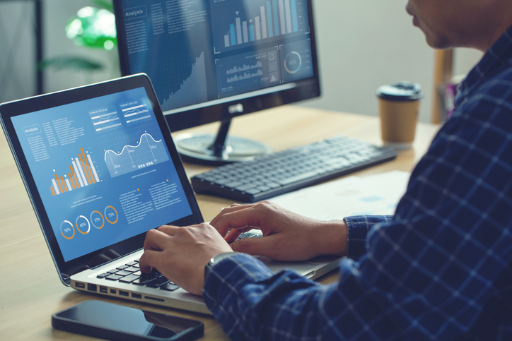
[[[218,32],[220,52],[308,31],[304,0],[214,1],[213,5],[214,21],[219,21],[213,23],[214,31],[223,30]]]

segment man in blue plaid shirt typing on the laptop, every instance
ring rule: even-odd
[[[432,47],[486,53],[394,216],[318,222],[257,203],[148,232],[141,268],[203,294],[233,339],[512,340],[512,1],[409,0],[407,12]],[[248,227],[265,237],[228,245]],[[320,285],[232,251],[348,257]]]

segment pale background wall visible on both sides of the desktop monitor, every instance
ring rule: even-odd
[[[7,35],[16,31],[16,18],[30,8],[23,1],[0,3],[0,45],[2,30]],[[88,56],[110,66],[106,71],[45,72],[47,92],[71,88],[119,76],[115,52],[77,47],[66,38],[67,20],[90,0],[45,0],[45,54],[54,56]],[[376,115],[375,90],[379,85],[400,80],[420,83],[424,89],[421,121],[430,121],[434,78],[434,50],[424,35],[412,26],[405,12],[407,0],[315,0],[315,24],[323,95],[303,106],[344,112]],[[2,27],[1,25],[4,25]],[[0,102],[33,95],[32,23],[25,23],[20,49],[16,56],[17,84],[0,82]],[[466,49],[455,52],[455,73],[467,73],[481,53]],[[6,52],[0,49],[0,70]],[[21,66],[21,67],[20,67]],[[30,66],[30,67],[29,67]],[[0,75],[1,77],[1,75]],[[1,79],[1,78],[0,78]],[[16,86],[15,86],[16,85]]]

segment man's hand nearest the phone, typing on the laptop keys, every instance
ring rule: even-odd
[[[146,234],[139,265],[142,273],[156,268],[176,285],[201,295],[204,266],[211,257],[231,251],[219,232],[206,223],[188,227],[164,225]]]

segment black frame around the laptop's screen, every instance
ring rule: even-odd
[[[188,181],[187,174],[185,173],[185,169],[181,162],[180,155],[178,154],[178,151],[176,150],[173,143],[173,138],[170,135],[170,129],[168,128],[167,121],[165,121],[163,118],[161,107],[158,104],[158,100],[156,99],[153,85],[151,84],[151,80],[146,74],[139,73],[125,78],[117,78],[115,80],[108,80],[102,83],[86,85],[71,90],[53,92],[47,95],[30,97],[0,105],[0,119],[6,133],[6,138],[11,147],[11,151],[13,152],[18,170],[23,179],[23,183],[25,184],[25,189],[27,190],[28,196],[33,205],[35,215],[40,223],[42,234],[44,235],[47,246],[50,249],[50,253],[57,268],[57,272],[59,273],[61,281],[65,285],[69,285],[69,277],[71,275],[74,275],[81,270],[85,270],[86,268],[91,268],[91,261],[93,261],[93,259],[97,258],[98,256],[105,255],[108,250],[114,250],[120,257],[122,257],[141,249],[144,246],[146,232],[138,234],[129,239],[125,239],[124,241],[120,241],[116,244],[112,244],[103,249],[99,249],[81,257],[72,259],[71,261],[64,261],[62,251],[57,242],[57,237],[55,236],[54,230],[52,229],[50,219],[46,213],[45,206],[35,184],[32,171],[28,165],[28,161],[25,157],[25,153],[23,152],[23,148],[21,147],[20,140],[18,139],[16,129],[13,126],[11,118],[14,116],[29,114],[31,112],[39,112],[41,110],[51,109],[53,107],[60,107],[74,102],[81,102],[84,100],[90,100],[95,97],[112,95],[117,92],[123,92],[142,87],[144,87],[146,90],[146,94],[148,95],[148,98],[151,102],[153,112],[155,114],[156,120],[158,121],[158,126],[161,128],[165,144],[167,145],[171,156],[171,160],[175,165],[176,172],[178,173],[178,177],[182,183],[183,190],[185,191],[185,196],[187,197],[187,201],[190,203],[190,209],[192,210],[192,213],[187,217],[183,217],[180,220],[169,223],[173,223],[173,225],[178,226],[185,226],[204,222],[202,214],[199,210],[199,205],[197,204],[196,198],[194,196],[194,191],[192,190],[192,186],[190,185],[190,181]],[[152,228],[156,227],[151,227],[149,229]]]

